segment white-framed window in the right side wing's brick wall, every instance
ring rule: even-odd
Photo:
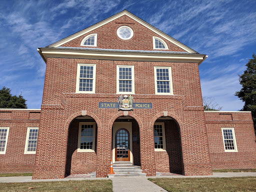
[[[237,152],[234,128],[221,128],[225,152]]]

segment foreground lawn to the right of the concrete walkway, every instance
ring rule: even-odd
[[[167,191],[256,191],[256,177],[148,178]]]

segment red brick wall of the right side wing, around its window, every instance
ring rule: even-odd
[[[231,119],[221,118],[232,116]],[[213,169],[256,168],[256,137],[250,112],[205,112]],[[225,152],[221,127],[233,127],[237,152]]]

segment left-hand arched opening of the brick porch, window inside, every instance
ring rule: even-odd
[[[97,123],[91,116],[79,115],[68,127],[65,176],[96,171]]]

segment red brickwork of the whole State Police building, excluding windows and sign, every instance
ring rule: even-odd
[[[134,35],[131,39],[122,40],[117,36],[116,30],[122,25],[132,28]],[[81,47],[81,40],[91,33],[97,33],[97,46],[94,47],[97,49],[153,51],[152,36],[164,39],[145,24],[122,15],[60,46],[68,51],[72,50],[70,47]],[[0,171],[24,172],[33,169],[33,179],[63,178],[69,174],[93,171],[96,171],[97,177],[105,177],[113,158],[113,123],[120,121],[132,124],[130,136],[135,134],[137,140],[130,143],[133,155],[131,160],[134,165],[141,166],[147,176],[155,175],[156,171],[211,175],[212,168],[256,167],[251,114],[204,112],[199,61],[195,62],[191,57],[177,62],[171,57],[176,52],[184,57],[196,53],[186,52],[185,46],[179,47],[167,39],[164,41],[169,49],[160,51],[170,55],[166,61],[157,61],[153,53],[154,58],[146,61],[142,55],[136,56],[136,60],[126,59],[125,56],[99,59],[93,57],[93,50],[87,58],[66,56],[64,53],[54,53],[60,56],[47,56],[42,51],[41,55],[46,58],[46,70],[40,113],[32,110],[0,110],[0,125],[10,127],[6,154],[0,154],[1,163],[12,167],[19,164],[17,168]],[[51,47],[53,51],[59,50],[57,48]],[[78,63],[95,64],[95,93],[76,92]],[[117,65],[134,67],[134,102],[150,102],[152,108],[118,111],[117,108],[98,107],[99,102],[117,102]],[[173,94],[155,94],[154,66],[171,67]],[[78,151],[79,122],[95,122],[94,151]],[[155,122],[164,122],[164,151],[154,149]],[[16,125],[19,126],[19,132],[12,131]],[[39,126],[35,155],[23,154],[28,126]],[[222,126],[234,127],[238,152],[224,152]],[[15,147],[14,137],[20,139],[18,147]],[[250,147],[246,148],[248,145]],[[249,154],[249,159],[242,157],[245,153]],[[18,155],[14,161],[17,154],[27,159],[24,161]],[[230,160],[232,163],[228,163]],[[31,166],[22,168],[24,162]]]

